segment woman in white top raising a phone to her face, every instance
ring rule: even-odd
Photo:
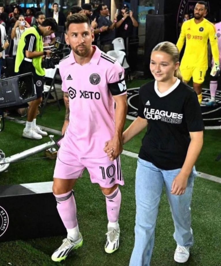
[[[14,62],[17,53],[18,41],[20,40],[22,33],[24,33],[24,31],[26,31],[30,27],[31,26],[29,25],[29,23],[24,20],[24,16],[20,15],[18,17],[18,20],[15,22],[14,27],[12,28],[11,39],[14,40],[12,53]]]

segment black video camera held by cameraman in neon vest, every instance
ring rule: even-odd
[[[64,54],[69,54],[71,49],[70,48],[63,48],[63,49],[58,49],[56,47],[53,47],[50,49],[51,52],[51,57],[46,57],[42,61],[42,67],[43,68],[55,68],[55,65],[58,65],[59,61],[65,56]]]

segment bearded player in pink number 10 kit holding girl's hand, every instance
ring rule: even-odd
[[[53,184],[67,238],[52,254],[53,261],[66,259],[72,249],[82,246],[72,188],[85,168],[91,182],[99,184],[106,199],[105,251],[112,253],[119,247],[121,193],[118,185],[124,184],[119,154],[127,111],[124,69],[116,59],[92,46],[93,40],[86,16],[68,17],[65,41],[72,51],[59,63],[66,114]],[[104,152],[107,141],[113,151],[112,160]]]

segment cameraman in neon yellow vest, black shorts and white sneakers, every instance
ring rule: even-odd
[[[47,136],[47,132],[42,131],[36,126],[36,116],[38,106],[42,101],[42,92],[44,88],[45,70],[42,68],[42,57],[50,57],[51,50],[43,51],[43,37],[58,30],[58,24],[54,18],[46,18],[41,25],[30,27],[25,31],[18,43],[18,49],[15,60],[16,73],[33,73],[33,80],[37,93],[37,99],[29,105],[26,127],[23,137],[29,139],[41,139]]]

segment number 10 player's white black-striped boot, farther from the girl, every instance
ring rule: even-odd
[[[71,250],[80,248],[82,244],[83,238],[81,233],[79,234],[79,239],[76,241],[72,241],[69,238],[63,239],[62,245],[52,254],[52,261],[60,262],[62,260],[65,260]]]

